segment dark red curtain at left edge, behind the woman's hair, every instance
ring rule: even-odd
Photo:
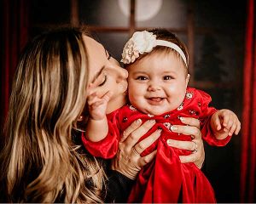
[[[28,0],[1,1],[1,93],[0,127],[3,127],[9,104],[11,82],[21,49],[28,39]]]

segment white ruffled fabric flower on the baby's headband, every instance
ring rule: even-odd
[[[149,53],[156,46],[156,36],[148,31],[137,31],[126,42],[121,62],[130,64],[139,57],[139,54]]]

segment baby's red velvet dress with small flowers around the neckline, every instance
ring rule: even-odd
[[[157,149],[155,160],[148,163],[137,176],[127,202],[216,202],[212,186],[194,163],[181,163],[178,156],[189,155],[189,150],[179,150],[166,144],[167,139],[190,141],[189,135],[172,133],[172,124],[183,124],[179,117],[195,117],[201,121],[202,138],[208,144],[223,146],[230,137],[215,139],[210,129],[210,118],[216,109],[208,107],[211,97],[195,88],[187,88],[182,105],[177,110],[160,116],[146,115],[132,105],[124,105],[108,115],[108,136],[99,142],[82,138],[84,146],[94,156],[112,158],[119,144],[119,135],[131,122],[141,118],[143,122],[154,119],[156,124],[141,139],[148,137],[157,128],[163,129],[160,139],[144,150],[142,156]],[[141,140],[140,139],[140,140]]]

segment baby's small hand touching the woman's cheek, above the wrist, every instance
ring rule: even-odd
[[[108,101],[112,93],[108,91],[106,94],[99,98],[96,93],[90,94],[87,99],[89,106],[90,118],[93,120],[102,120],[106,116]]]

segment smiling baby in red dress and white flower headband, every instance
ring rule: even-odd
[[[157,154],[139,173],[128,202],[216,202],[201,170],[194,163],[179,160],[191,151],[168,146],[169,139],[193,141],[189,135],[173,133],[172,125],[182,124],[183,117],[195,117],[201,122],[202,138],[208,144],[223,146],[233,133],[239,133],[241,124],[232,111],[209,107],[211,97],[207,93],[187,87],[188,59],[187,48],[171,32],[137,31],[126,42],[121,60],[129,72],[129,104],[106,116],[111,93],[101,99],[91,94],[88,99],[90,119],[82,140],[94,156],[113,157],[119,134],[137,119],[154,122],[141,139],[156,129],[161,131],[160,139],[148,149],[135,150],[142,156],[154,150]]]

